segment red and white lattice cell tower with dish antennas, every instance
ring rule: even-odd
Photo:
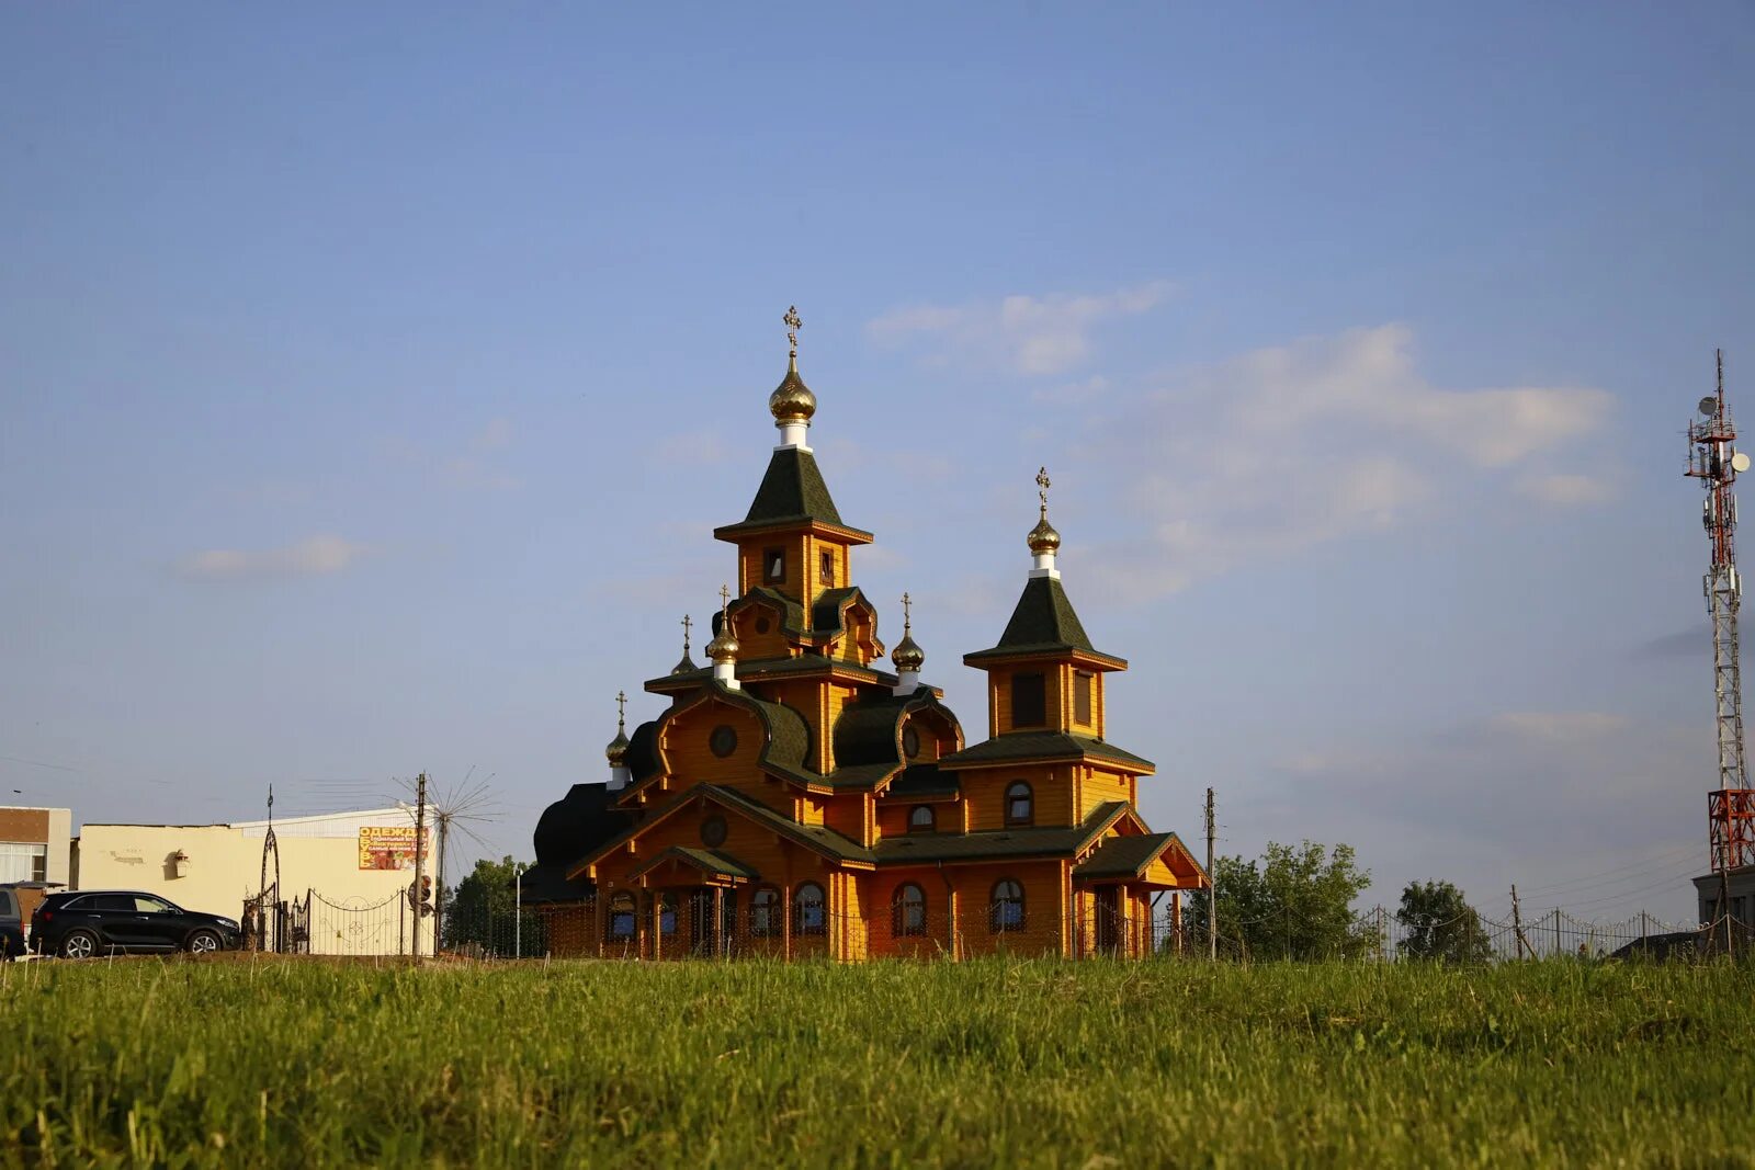
[[[1713,546],[1702,588],[1713,619],[1713,691],[1718,702],[1718,788],[1708,793],[1713,870],[1727,874],[1755,865],[1755,789],[1743,756],[1743,681],[1737,670],[1737,472],[1750,456],[1732,449],[1737,437],[1725,405],[1725,351],[1718,354],[1718,393],[1701,398],[1701,417],[1688,424],[1688,475],[1706,488],[1701,521]]]

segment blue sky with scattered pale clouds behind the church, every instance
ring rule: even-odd
[[[5,9],[0,779],[474,768],[526,856],[732,574],[797,303],[971,738],[1046,463],[1155,824],[1213,784],[1223,851],[1385,900],[1681,916],[1751,53],[1736,4]]]

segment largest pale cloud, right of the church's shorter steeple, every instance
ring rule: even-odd
[[[1074,460],[1120,481],[1144,540],[1102,551],[1150,598],[1246,563],[1386,531],[1481,477],[1599,432],[1588,388],[1437,389],[1406,326],[1262,349],[1174,377],[1092,423]],[[1585,484],[1550,484],[1557,503]]]

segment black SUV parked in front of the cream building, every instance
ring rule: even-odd
[[[111,951],[235,951],[242,933],[230,917],[198,914],[132,889],[53,893],[30,916],[37,954],[88,960]]]

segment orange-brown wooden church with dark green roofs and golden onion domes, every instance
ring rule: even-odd
[[[526,895],[556,952],[679,958],[1139,956],[1172,944],[1207,877],[1137,810],[1153,765],[1109,738],[1109,677],[1060,581],[1048,477],[1032,567],[985,670],[986,738],[963,740],[909,631],[879,661],[878,607],[807,444],[816,395],[792,356],[769,396],[779,446],[737,549],[707,667],[649,679],[669,700],[609,744],[611,779],[544,812]],[[1155,912],[1157,907],[1157,912]]]

